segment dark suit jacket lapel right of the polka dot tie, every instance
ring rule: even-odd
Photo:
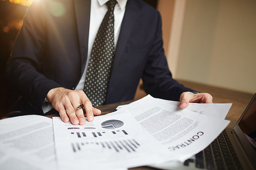
[[[123,21],[122,21],[122,26],[121,26],[117,46],[116,46],[116,53],[115,53],[115,59],[114,59],[112,71],[115,71],[118,61],[124,51],[127,40],[130,37],[131,31],[133,29],[137,16],[138,16],[138,7],[135,3],[135,0],[128,0],[126,4],[125,13],[123,16]]]

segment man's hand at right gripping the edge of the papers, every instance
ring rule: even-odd
[[[209,93],[181,93],[180,108],[186,108],[188,103],[212,103],[212,96]]]

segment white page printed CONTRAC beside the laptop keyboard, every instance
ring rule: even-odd
[[[224,115],[230,106],[226,105]],[[204,150],[229,124],[229,120],[215,116],[216,113],[199,114],[150,95],[119,108],[124,110],[129,110],[145,133],[169,151],[172,161],[185,161]]]

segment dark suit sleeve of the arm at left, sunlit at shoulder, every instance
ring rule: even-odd
[[[47,38],[45,15],[44,4],[34,1],[26,12],[6,67],[9,83],[37,110],[41,110],[48,91],[60,87],[42,74]]]

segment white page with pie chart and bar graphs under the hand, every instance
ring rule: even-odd
[[[53,117],[53,129],[60,169],[119,169],[169,160],[168,150],[144,134],[129,111],[96,116],[83,126]]]

